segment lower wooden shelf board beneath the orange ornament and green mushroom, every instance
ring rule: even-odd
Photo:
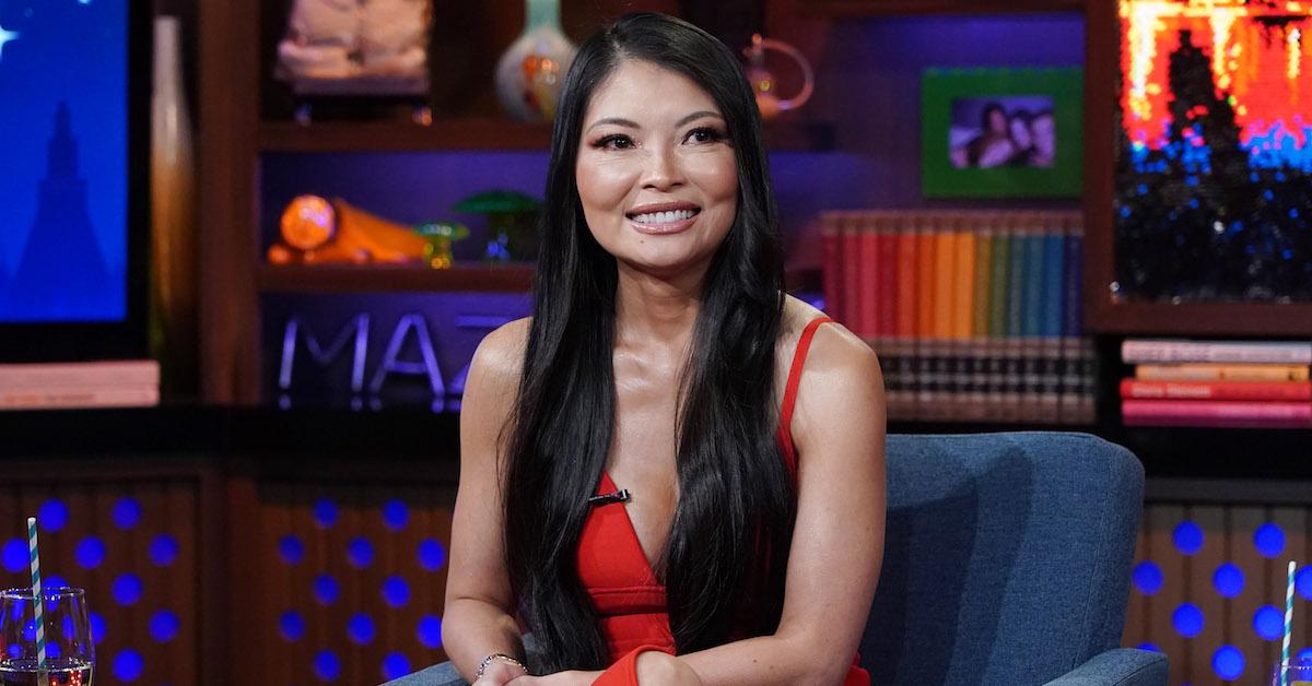
[[[820,270],[790,269],[790,291],[819,290]],[[533,286],[533,265],[458,264],[451,269],[409,265],[260,265],[262,293],[525,293]]]

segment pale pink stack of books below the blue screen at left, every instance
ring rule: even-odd
[[[148,407],[159,400],[154,359],[0,365],[0,409]]]

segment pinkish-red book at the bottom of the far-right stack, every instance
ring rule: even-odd
[[[1127,426],[1312,428],[1312,403],[1126,400]]]

